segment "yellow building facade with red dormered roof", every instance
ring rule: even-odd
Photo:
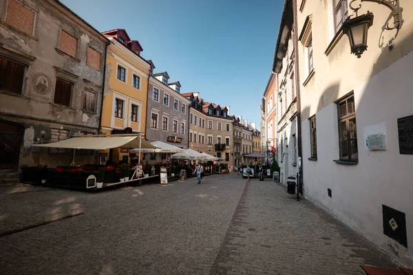
[[[125,30],[103,32],[107,47],[105,94],[100,133],[103,135],[145,133],[148,81],[151,65],[140,56],[142,47]],[[129,149],[99,152],[99,163],[133,162]]]

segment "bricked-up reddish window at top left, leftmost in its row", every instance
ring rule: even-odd
[[[18,1],[10,0],[8,1],[6,22],[26,34],[33,34],[34,12]]]

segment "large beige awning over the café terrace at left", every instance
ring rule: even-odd
[[[53,142],[48,144],[32,144],[32,146],[52,147],[52,148],[73,148],[73,149],[89,149],[89,150],[105,150],[111,148],[147,148],[157,149],[145,138],[136,135],[111,136],[111,135],[85,135],[83,137],[72,137],[61,142]]]

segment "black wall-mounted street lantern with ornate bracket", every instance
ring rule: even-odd
[[[372,12],[367,12],[367,14],[363,14],[358,16],[357,11],[361,8],[361,4],[354,8],[352,4],[355,1],[368,1],[378,3],[379,5],[385,5],[386,7],[392,10],[391,15],[394,20],[394,25],[390,26],[389,24],[386,25],[386,30],[399,30],[401,25],[403,25],[403,19],[401,17],[401,13],[403,8],[400,7],[399,0],[352,0],[350,2],[350,9],[356,12],[356,17],[350,18],[343,23],[343,32],[347,34],[348,40],[350,41],[350,48],[351,53],[355,54],[357,58],[360,58],[361,54],[367,50],[367,34],[368,28],[373,24],[373,14]]]

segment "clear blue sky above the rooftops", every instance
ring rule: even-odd
[[[284,0],[63,0],[100,32],[125,29],[182,92],[260,125]]]

